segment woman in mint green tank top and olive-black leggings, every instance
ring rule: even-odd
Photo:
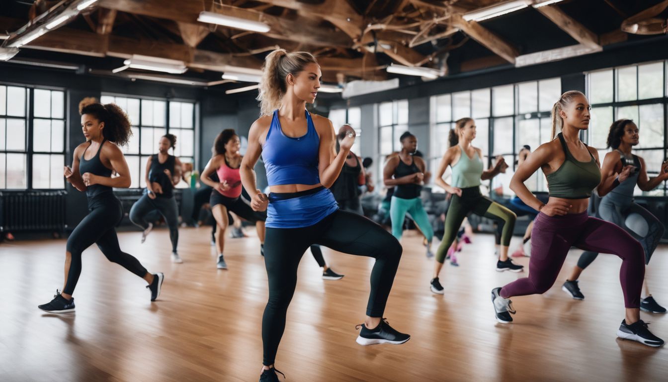
[[[500,157],[494,167],[484,171],[482,165],[482,150],[473,147],[472,141],[476,138],[476,122],[472,118],[462,118],[455,122],[455,127],[450,130],[450,149],[446,151],[438,171],[436,171],[435,183],[446,192],[452,194],[450,207],[446,213],[446,224],[443,240],[436,252],[434,262],[434,278],[431,281],[432,292],[444,294],[438,274],[443,268],[446,260],[446,252],[454,242],[457,231],[469,213],[494,219],[503,225],[502,247],[500,257],[496,262],[496,270],[503,272],[522,272],[523,267],[514,264],[508,258],[508,246],[510,237],[515,227],[515,214],[506,207],[492,201],[480,193],[480,181],[492,179],[500,173],[505,161]],[[448,166],[452,167],[452,185],[443,180],[443,174]]]

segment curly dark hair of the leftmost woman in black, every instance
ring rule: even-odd
[[[128,114],[117,104],[103,105],[99,102],[87,103],[87,101],[90,101],[90,98],[84,98],[79,103],[79,114],[90,114],[100,122],[104,122],[102,129],[104,138],[118,146],[127,146],[132,136]]]

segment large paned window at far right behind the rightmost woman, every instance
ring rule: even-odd
[[[599,149],[601,161],[607,149],[611,124],[631,119],[640,129],[640,143],[633,150],[645,159],[649,177],[658,175],[666,153],[665,62],[650,62],[599,70],[587,74],[587,95],[592,105],[589,145]],[[636,195],[666,195],[666,185]]]

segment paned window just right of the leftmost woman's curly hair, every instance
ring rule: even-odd
[[[167,132],[176,135],[172,155],[194,163],[194,103],[124,96],[102,96],[101,101],[118,104],[130,117],[132,137],[123,148],[132,177],[130,188],[146,187],[146,161],[158,153],[158,140]]]

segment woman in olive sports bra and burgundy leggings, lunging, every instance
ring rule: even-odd
[[[619,280],[624,294],[626,318],[617,337],[657,347],[663,340],[653,335],[640,319],[640,293],[645,276],[643,246],[627,231],[610,223],[589,217],[587,207],[592,190],[605,195],[627,180],[627,166],[616,180],[603,178],[599,153],[583,143],[580,131],[589,128],[590,106],[585,94],[565,92],[552,107],[552,136],[560,126],[558,138],[540,145],[512,177],[510,188],[526,205],[540,211],[531,234],[531,257],[528,278],[520,278],[503,288],[492,290],[496,320],[512,322],[510,298],[546,292],[558,276],[571,246],[593,252],[615,254],[622,259]],[[548,182],[547,204],[538,200],[524,185],[538,169]]]

